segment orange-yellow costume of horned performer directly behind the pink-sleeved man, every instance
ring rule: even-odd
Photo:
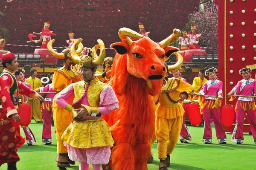
[[[73,70],[76,72],[78,70],[78,66],[76,65]],[[79,73],[73,73],[71,70],[67,70],[66,68],[62,67],[54,71],[54,76],[52,79],[52,89],[55,91],[62,91],[71,83],[79,81],[81,81],[81,76]],[[55,103],[57,96],[58,94],[54,96],[52,105],[52,114],[57,139],[57,153],[67,153],[67,147],[63,145],[61,136],[72,122],[72,115],[71,112],[65,110],[64,108],[61,108]]]

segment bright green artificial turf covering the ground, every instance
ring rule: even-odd
[[[33,146],[23,144],[18,150],[20,161],[17,162],[18,170],[58,170],[55,162],[56,139],[54,127],[52,127],[52,145],[44,145],[41,142],[42,123],[29,125],[37,142]],[[188,126],[193,141],[189,144],[177,143],[171,154],[171,166],[169,170],[254,170],[256,169],[256,144],[253,137],[244,133],[244,143],[238,145],[231,142],[231,134],[227,134],[227,144],[218,144],[215,129],[212,125],[212,144],[202,142],[203,127]],[[20,129],[21,135],[24,132]],[[153,146],[154,161],[148,164],[148,170],[157,170],[157,143]],[[76,162],[68,170],[79,170],[79,162]],[[90,170],[92,170],[90,165]],[[0,170],[7,170],[7,164],[3,164]]]

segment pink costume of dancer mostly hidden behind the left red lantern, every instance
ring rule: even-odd
[[[26,85],[27,87],[31,88],[31,85],[30,85],[29,83],[25,82],[25,80],[26,80],[26,78],[24,78],[24,79],[22,80],[23,85]],[[23,101],[24,101],[25,103],[27,103],[27,102],[28,102],[28,99],[29,99],[28,96],[24,96]],[[22,102],[21,99],[19,99],[18,101],[19,101],[19,102]],[[35,141],[35,136],[34,136],[34,134],[32,133],[32,130],[30,130],[29,126],[21,126],[21,127],[23,128],[23,131],[24,131],[24,133],[25,133],[27,144],[33,144],[33,143],[35,143],[35,142],[36,142],[36,141]]]

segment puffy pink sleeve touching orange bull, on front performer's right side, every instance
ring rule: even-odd
[[[100,97],[100,102],[99,102],[100,107],[106,107],[108,108],[108,110],[115,110],[119,107],[116,94],[111,88],[111,86],[107,86],[106,88],[104,88],[101,94],[99,95],[99,97]]]

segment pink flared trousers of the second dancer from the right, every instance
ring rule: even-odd
[[[203,142],[212,142],[212,127],[211,127],[211,116],[214,121],[216,136],[218,142],[227,142],[226,134],[221,126],[220,122],[220,109],[213,108],[208,109],[208,104],[202,109],[204,115],[204,137]]]

